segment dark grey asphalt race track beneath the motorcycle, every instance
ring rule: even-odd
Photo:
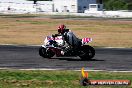
[[[42,58],[38,49],[39,46],[0,45],[0,68],[132,71],[132,49],[96,48],[96,56],[90,61],[79,57]]]

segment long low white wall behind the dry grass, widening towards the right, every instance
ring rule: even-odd
[[[91,16],[91,17],[106,17],[106,18],[132,18],[132,12],[126,11],[88,11],[85,13],[68,13],[68,12],[43,12],[38,14],[48,15],[75,15],[75,16]]]

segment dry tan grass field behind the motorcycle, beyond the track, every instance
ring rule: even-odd
[[[132,20],[60,18],[65,16],[2,14],[0,44],[41,45],[44,37],[57,33],[58,25],[65,24],[77,37],[93,38],[92,46],[132,47]]]

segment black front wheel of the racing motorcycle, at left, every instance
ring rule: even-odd
[[[44,47],[39,48],[39,55],[44,58],[51,58],[55,55],[55,53],[51,50],[46,50]]]

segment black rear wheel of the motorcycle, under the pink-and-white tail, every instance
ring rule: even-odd
[[[82,60],[90,60],[95,56],[95,49],[91,46],[85,46],[81,49],[82,54],[79,56]]]

